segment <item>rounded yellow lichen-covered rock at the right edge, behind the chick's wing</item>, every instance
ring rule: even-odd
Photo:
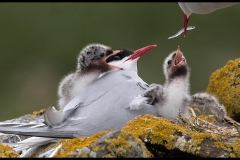
[[[210,76],[207,92],[218,97],[228,116],[240,116],[240,58],[230,60]]]

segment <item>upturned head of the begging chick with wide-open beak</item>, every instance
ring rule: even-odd
[[[188,78],[190,69],[187,65],[186,58],[180,51],[180,47],[165,58],[163,70],[167,81],[178,77]]]

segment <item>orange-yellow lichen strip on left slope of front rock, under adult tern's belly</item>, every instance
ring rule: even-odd
[[[75,152],[77,148],[88,147],[90,144],[97,141],[102,135],[106,134],[107,132],[109,132],[109,130],[96,133],[90,137],[61,140],[55,145],[58,146],[62,144],[62,147],[58,150],[54,157],[55,158],[71,157],[72,152]],[[79,156],[85,157],[86,155],[84,155],[83,153],[82,155]]]

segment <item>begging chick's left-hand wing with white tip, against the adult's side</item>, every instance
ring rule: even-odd
[[[162,99],[163,87],[159,84],[151,84],[149,88],[143,91],[137,97],[134,97],[130,102],[129,107],[131,110],[138,110],[143,107],[143,104],[153,105],[155,102],[159,102]]]

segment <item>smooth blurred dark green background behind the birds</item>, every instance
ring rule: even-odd
[[[113,49],[157,47],[138,61],[147,83],[163,84],[164,58],[178,46],[191,67],[191,93],[205,91],[212,72],[240,58],[240,4],[191,15],[169,3],[0,3],[0,121],[57,103],[59,81],[75,71],[89,43]]]

